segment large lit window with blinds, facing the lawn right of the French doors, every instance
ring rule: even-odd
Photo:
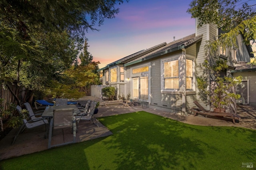
[[[164,62],[164,89],[179,89],[179,61]]]

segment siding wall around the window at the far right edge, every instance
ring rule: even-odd
[[[249,80],[249,104],[256,105],[256,73],[255,72],[241,72],[233,73],[234,77],[241,75],[243,80]]]

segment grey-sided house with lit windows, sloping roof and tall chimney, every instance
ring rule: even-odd
[[[197,22],[197,20],[196,20]],[[197,25],[197,24],[196,24]],[[214,24],[196,28],[195,34],[170,43],[162,43],[142,50],[99,69],[103,72],[103,85],[117,87],[118,96],[149,103],[150,107],[163,111],[187,114],[197,100],[206,109],[196,87],[196,77],[205,73],[202,63],[207,57],[204,45],[216,40],[220,30]],[[228,61],[230,70],[238,61],[250,61],[250,51],[238,36],[238,49],[220,47],[220,57]]]

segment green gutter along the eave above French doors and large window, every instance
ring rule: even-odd
[[[174,51],[177,51],[177,50],[180,50],[180,49],[183,49],[185,48],[185,45],[182,44],[182,45],[179,45],[177,47],[174,47],[174,48],[171,48],[171,49],[167,49],[165,51],[162,51],[162,52],[159,52],[159,53],[155,53],[155,54],[152,54],[152,55],[149,55],[147,57],[144,57],[142,59],[138,59],[138,60],[135,60],[135,61],[132,61],[130,63],[126,63],[124,64],[124,66],[128,66],[128,65],[132,65],[132,64],[135,64],[135,63],[139,63],[141,61],[145,61],[145,60],[148,60],[148,59],[152,59],[152,58],[155,58],[155,57],[159,57],[161,55],[164,55],[164,54],[168,54],[168,53],[171,53],[171,52],[174,52]]]

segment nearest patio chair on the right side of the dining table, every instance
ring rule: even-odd
[[[96,118],[94,117],[94,110],[96,108],[96,104],[97,104],[97,102],[92,101],[88,113],[84,113],[84,114],[76,116],[77,130],[78,130],[78,125],[79,125],[80,121],[92,121],[92,123],[94,123],[94,121],[95,121],[94,124],[97,125],[97,127],[99,127],[98,122],[97,122]]]

